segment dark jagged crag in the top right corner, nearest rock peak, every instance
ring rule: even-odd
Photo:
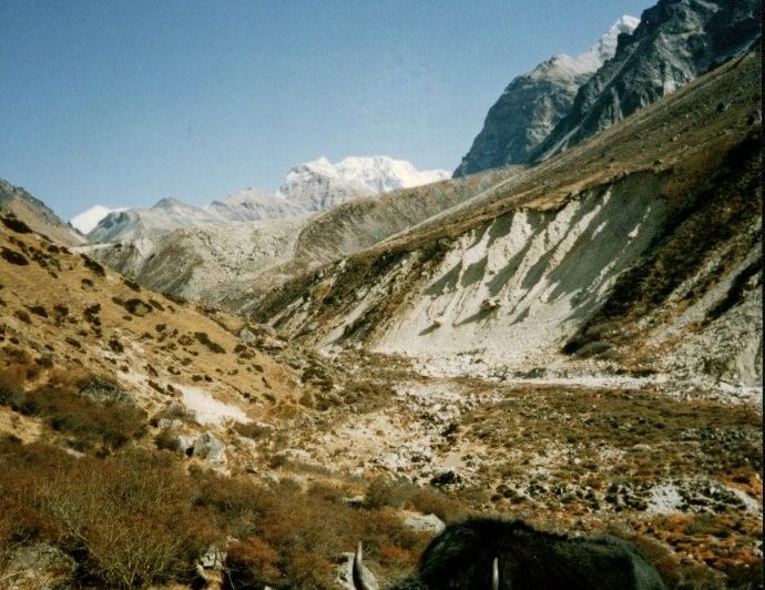
[[[567,149],[746,51],[762,34],[757,0],[661,0],[613,60],[577,93],[571,111],[533,154]]]

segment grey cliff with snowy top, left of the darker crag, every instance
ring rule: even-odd
[[[632,34],[639,22],[624,16],[584,53],[554,55],[510,82],[455,176],[531,162],[536,148],[571,111],[580,87],[614,57],[619,35]]]

